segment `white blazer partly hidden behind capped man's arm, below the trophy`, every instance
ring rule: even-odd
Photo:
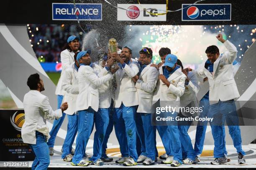
[[[108,74],[108,71],[102,66],[99,66],[97,64],[93,64],[92,66],[93,71],[95,74],[97,74],[98,77],[105,76]],[[111,104],[111,93],[110,93],[110,84],[112,81],[107,81],[104,84],[102,84],[99,88],[99,108],[109,108]]]

